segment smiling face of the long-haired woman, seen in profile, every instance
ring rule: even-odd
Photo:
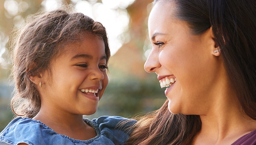
[[[193,35],[186,22],[175,18],[174,2],[157,2],[148,31],[153,48],[145,70],[156,72],[161,87],[167,87],[169,111],[202,114],[213,103],[219,81],[211,29]]]

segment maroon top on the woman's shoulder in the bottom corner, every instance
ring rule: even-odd
[[[249,134],[245,134],[232,143],[232,145],[256,145],[256,129]]]

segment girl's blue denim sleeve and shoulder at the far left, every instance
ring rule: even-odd
[[[0,145],[74,145],[40,121],[30,118],[16,118],[0,133]]]

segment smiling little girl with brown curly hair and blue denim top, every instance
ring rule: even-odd
[[[102,24],[64,10],[39,14],[28,19],[13,53],[16,94],[11,107],[17,118],[0,133],[0,144],[113,145],[126,141],[125,126],[116,125],[127,119],[83,118],[96,112],[108,85],[110,51]]]

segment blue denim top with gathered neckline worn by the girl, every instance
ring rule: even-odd
[[[19,117],[12,120],[0,133],[0,145],[122,145],[129,138],[127,128],[136,122],[118,116],[83,120],[95,129],[97,136],[89,140],[75,140],[54,132],[41,121]],[[116,128],[120,121],[125,121],[125,124]]]

